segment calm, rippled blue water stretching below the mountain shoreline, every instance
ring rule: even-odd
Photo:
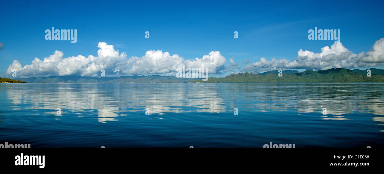
[[[384,145],[383,85],[0,84],[0,144],[373,148]]]

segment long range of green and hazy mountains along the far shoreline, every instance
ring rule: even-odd
[[[85,77],[85,76],[48,76],[5,79],[2,83],[217,83],[217,82],[384,82],[384,70],[370,68],[371,76],[367,70],[349,70],[346,68],[331,68],[328,70],[283,70],[283,76],[278,76],[278,70],[263,73],[237,73],[223,78],[210,77],[208,81],[199,78],[176,78],[175,76],[161,75],[134,75],[121,77]]]

